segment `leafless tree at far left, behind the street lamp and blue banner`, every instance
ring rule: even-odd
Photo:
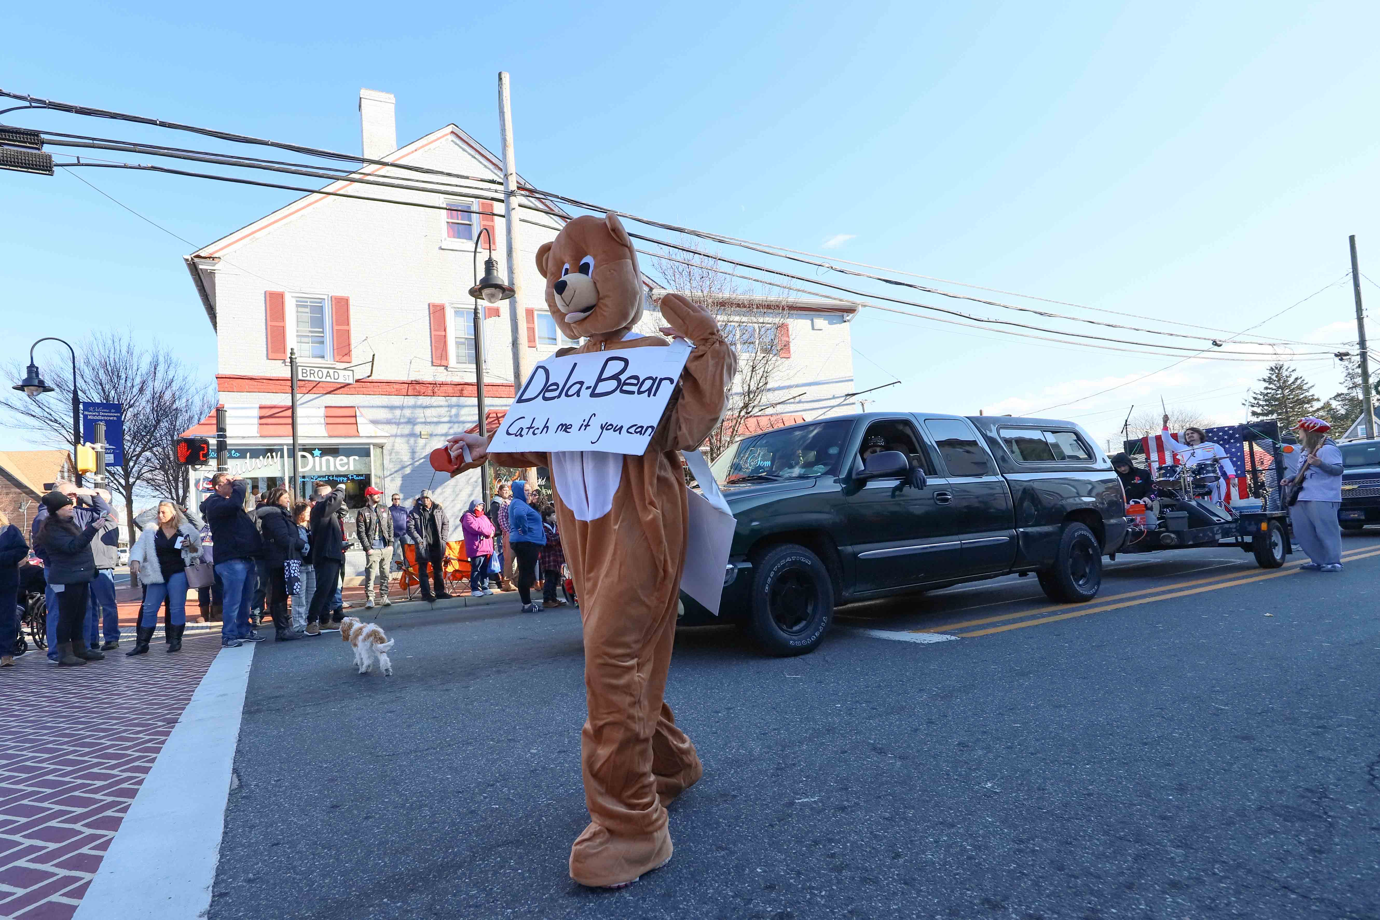
[[[124,465],[106,469],[106,484],[124,499],[132,538],[137,494],[156,491],[185,503],[186,476],[172,476],[168,465],[172,439],[206,415],[210,386],[199,382],[193,370],[166,346],[137,342],[126,331],[95,332],[75,343],[75,349],[81,399],[123,406]],[[6,371],[15,379],[22,375],[18,361],[11,361]],[[52,396],[29,399],[6,390],[0,407],[15,428],[66,446],[72,439],[72,371],[65,363],[52,364],[46,377],[55,390]]]

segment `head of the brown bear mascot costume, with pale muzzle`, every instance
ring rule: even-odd
[[[570,339],[618,338],[642,319],[642,273],[615,214],[577,217],[537,250],[546,306]]]

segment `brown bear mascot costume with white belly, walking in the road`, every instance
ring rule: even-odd
[[[546,306],[560,331],[584,338],[569,353],[665,346],[632,332],[643,283],[632,240],[613,214],[578,217],[537,251]],[[589,717],[580,763],[591,822],[570,850],[570,877],[621,887],[671,859],[665,806],[700,779],[694,745],[662,701],[684,568],[689,495],[678,451],[696,450],[723,418],[737,367],[713,317],[667,294],[662,332],[689,339],[686,361],[657,430],[640,457],[602,451],[491,454],[500,466],[545,466],[580,594]],[[473,469],[486,459],[477,434],[461,444]]]

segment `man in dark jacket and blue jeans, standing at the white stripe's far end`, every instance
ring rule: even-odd
[[[201,502],[201,517],[211,526],[215,574],[222,586],[221,647],[237,648],[246,641],[262,641],[250,626],[250,601],[254,594],[254,561],[264,552],[254,519],[244,510],[248,486],[240,477],[217,473],[215,490]]]

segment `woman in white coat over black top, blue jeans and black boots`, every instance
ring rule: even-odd
[[[172,502],[159,502],[159,526],[149,527],[130,549],[130,575],[145,586],[144,607],[134,648],[126,657],[144,655],[159,625],[159,607],[168,600],[168,651],[182,648],[186,629],[186,567],[201,556],[201,535]]]

